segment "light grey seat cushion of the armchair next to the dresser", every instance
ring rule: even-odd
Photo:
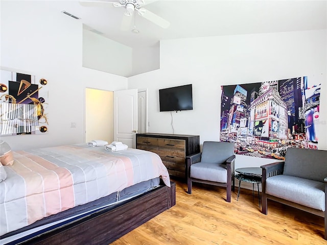
[[[191,165],[191,178],[227,183],[227,169],[224,164],[198,162]]]

